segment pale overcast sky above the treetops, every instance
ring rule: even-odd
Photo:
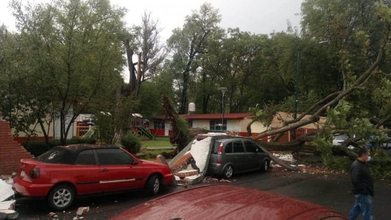
[[[27,1],[27,0],[22,0]],[[47,0],[31,0],[43,2]],[[0,23],[15,30],[15,19],[8,9],[8,0],[0,0]],[[181,27],[186,15],[199,10],[204,2],[210,2],[219,10],[223,28],[239,27],[242,31],[270,34],[286,31],[286,21],[300,26],[300,6],[303,0],[111,0],[112,4],[128,9],[125,20],[128,26],[141,24],[143,12],[151,11],[154,20],[164,28],[162,40],[171,36],[175,27]]]

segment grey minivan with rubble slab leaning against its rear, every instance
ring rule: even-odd
[[[269,155],[254,141],[244,137],[223,137],[213,143],[207,174],[231,178],[234,173],[267,171],[269,166]]]

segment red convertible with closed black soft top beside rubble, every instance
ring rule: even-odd
[[[173,178],[167,165],[139,160],[120,147],[76,144],[22,159],[14,187],[23,196],[46,197],[50,207],[64,210],[82,194],[145,188],[156,195]]]

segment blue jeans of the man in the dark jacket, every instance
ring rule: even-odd
[[[360,213],[363,213],[364,220],[373,220],[372,198],[369,194],[354,194],[356,202],[351,208],[348,218],[356,220]]]

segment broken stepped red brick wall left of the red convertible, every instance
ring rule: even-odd
[[[14,140],[9,123],[0,120],[0,175],[11,175],[17,172],[21,159],[33,157]]]

